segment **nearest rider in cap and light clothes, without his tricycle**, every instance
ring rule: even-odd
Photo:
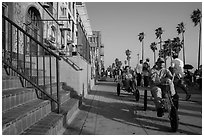
[[[150,88],[151,88],[151,93],[154,98],[154,103],[156,106],[157,110],[157,116],[162,117],[164,114],[164,104],[162,103],[162,98],[165,97],[165,90],[163,89],[163,84],[168,83],[169,88],[170,88],[170,93],[171,96],[177,96],[175,89],[174,89],[174,84],[172,82],[173,75],[171,72],[166,69],[164,64],[164,59],[163,58],[158,58],[156,62],[156,66],[151,69],[150,72]]]

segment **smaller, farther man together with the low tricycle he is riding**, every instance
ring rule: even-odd
[[[117,95],[120,96],[121,89],[133,93],[136,101],[139,101],[139,90],[136,88],[136,82],[133,74],[130,73],[130,67],[126,66],[125,70],[117,77]]]

